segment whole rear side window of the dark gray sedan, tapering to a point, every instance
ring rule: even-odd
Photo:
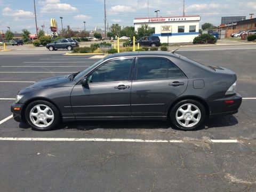
[[[171,61],[163,58],[139,58],[137,80],[183,77],[183,73]]]

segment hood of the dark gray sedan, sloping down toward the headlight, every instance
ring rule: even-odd
[[[76,82],[70,81],[68,78],[69,75],[63,75],[58,77],[51,77],[46,78],[41,81],[38,81],[34,84],[29,85],[23,90],[19,91],[19,94],[23,94],[26,92],[38,91],[38,90],[45,90],[45,89],[52,89],[54,87],[62,87],[66,85],[74,85]]]

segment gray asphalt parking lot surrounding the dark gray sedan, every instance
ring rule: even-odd
[[[15,122],[10,105],[20,89],[98,60],[66,52],[0,53],[1,191],[256,191],[255,45],[177,51],[235,71],[244,98],[238,114],[209,119],[198,131],[162,121],[89,121],[38,132]]]

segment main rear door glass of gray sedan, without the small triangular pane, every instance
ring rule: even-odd
[[[137,80],[167,77],[168,61],[161,58],[140,58],[138,60]]]

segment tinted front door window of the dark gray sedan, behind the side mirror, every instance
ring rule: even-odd
[[[89,76],[89,83],[127,81],[133,59],[118,59],[105,63]]]

